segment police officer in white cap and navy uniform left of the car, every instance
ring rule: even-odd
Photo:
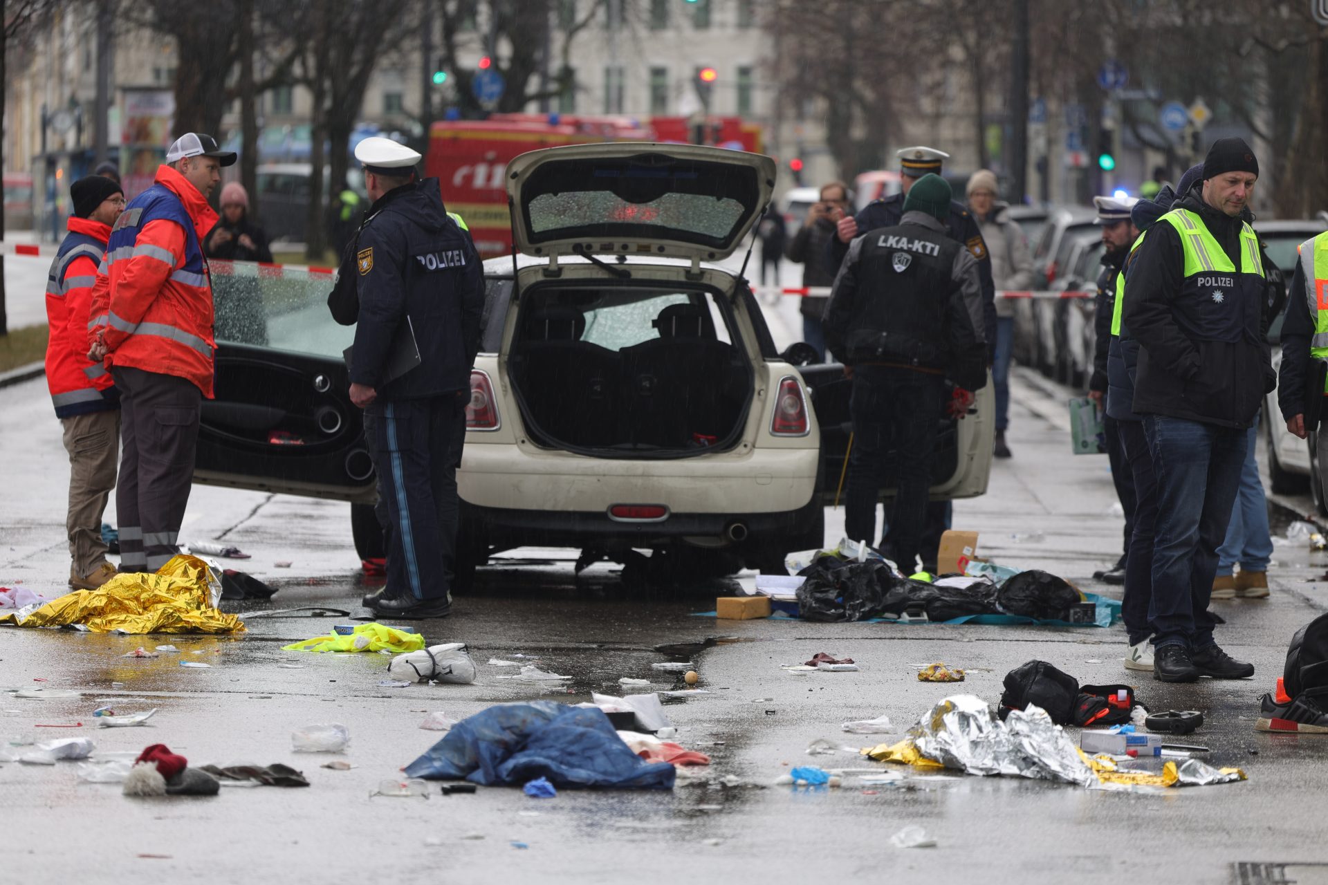
[[[386,586],[367,605],[396,618],[446,617],[483,272],[470,236],[449,218],[438,182],[416,175],[418,153],[367,138],[355,157],[373,204],[355,252],[360,305],[351,401],[371,418],[369,444],[393,529]],[[418,365],[397,374],[416,349]]]

